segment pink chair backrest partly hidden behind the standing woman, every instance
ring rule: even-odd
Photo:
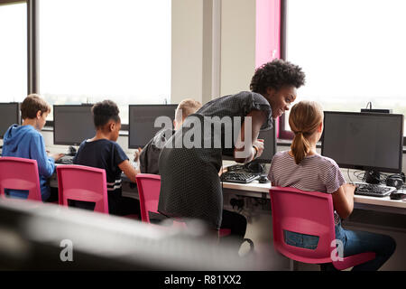
[[[159,174],[138,173],[136,176],[138,195],[140,197],[141,220],[150,223],[148,212],[158,212],[160,200],[161,176]]]

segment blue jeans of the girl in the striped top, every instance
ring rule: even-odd
[[[374,252],[376,254],[373,260],[354,266],[353,271],[378,270],[392,256],[396,248],[396,242],[390,236],[347,230],[341,227],[341,223],[336,225],[336,239],[343,242],[344,257],[364,252]],[[285,242],[291,246],[315,249],[318,237],[285,231]],[[332,263],[322,264],[321,269],[323,271],[337,270]]]

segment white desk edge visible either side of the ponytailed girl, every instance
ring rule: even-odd
[[[250,183],[223,182],[223,191],[226,193],[235,193],[247,197],[257,197],[270,199],[269,190],[271,183],[259,183],[253,181]],[[355,209],[378,210],[406,215],[406,200],[391,200],[389,196],[383,198],[359,196],[354,197]]]

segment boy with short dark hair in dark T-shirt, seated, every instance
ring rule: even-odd
[[[128,157],[119,144],[116,143],[121,128],[118,116],[119,109],[115,102],[104,100],[92,107],[96,135],[80,144],[73,163],[92,166],[106,170],[108,211],[112,215],[125,216],[137,214],[140,216],[140,202],[133,198],[122,196],[121,172],[135,182],[138,171],[128,162]],[[78,201],[74,207],[90,209],[89,204]]]

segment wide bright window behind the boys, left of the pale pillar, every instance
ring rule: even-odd
[[[40,93],[51,105],[171,99],[171,1],[42,0]],[[50,116],[51,117],[51,116]]]

